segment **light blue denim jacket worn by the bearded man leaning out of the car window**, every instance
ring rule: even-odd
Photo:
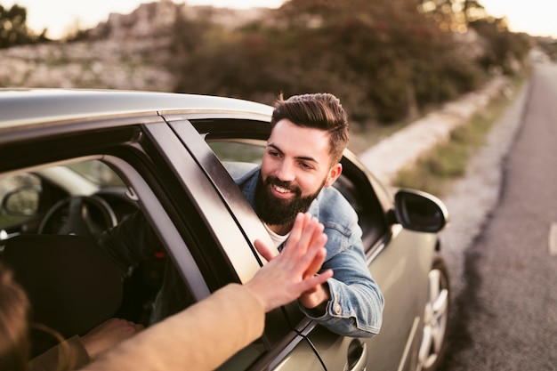
[[[254,206],[260,167],[247,173],[245,166],[227,165],[227,169]],[[302,305],[300,309],[307,317],[339,335],[372,337],[378,334],[383,320],[383,294],[367,268],[358,215],[333,187],[324,187],[308,212],[325,226],[327,257],[322,270],[333,270],[334,277],[327,280],[331,299],[325,313],[316,316]]]

